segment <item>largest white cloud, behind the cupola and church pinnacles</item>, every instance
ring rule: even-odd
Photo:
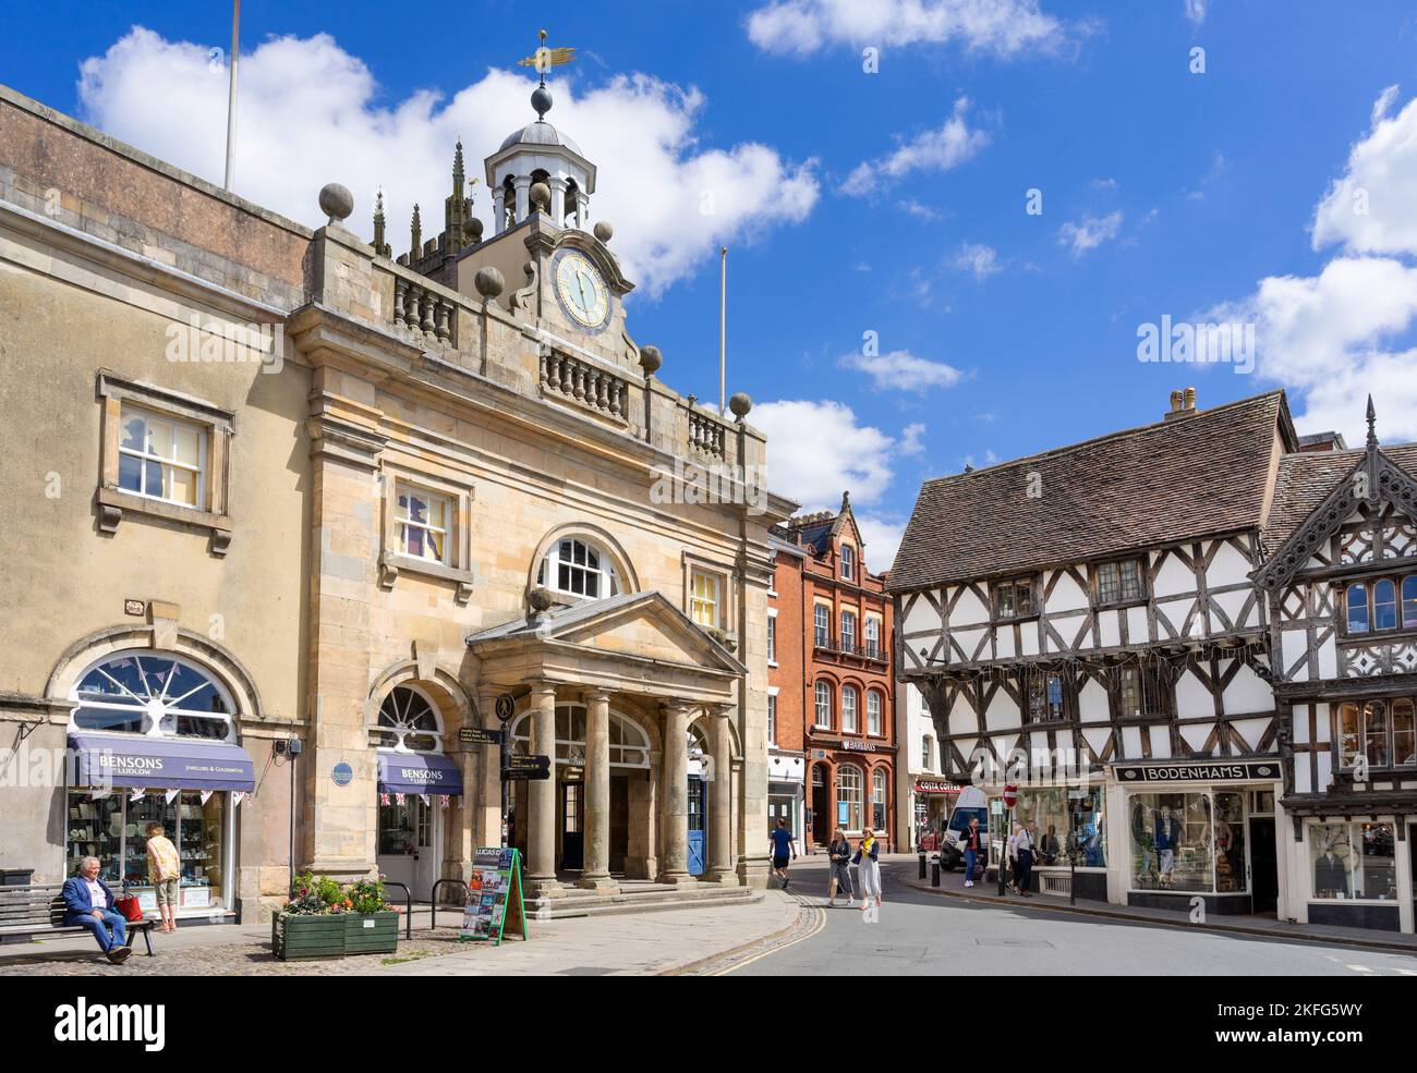
[[[310,225],[326,183],[354,193],[357,234],[370,235],[374,191],[385,191],[394,252],[408,246],[418,201],[424,235],[442,228],[453,143],[469,178],[482,157],[534,119],[533,84],[489,69],[451,98],[419,91],[384,103],[361,59],[329,34],[269,38],[241,59],[235,191]],[[653,296],[690,275],[720,243],[760,238],[806,218],[818,200],[815,161],[791,163],[758,143],[706,149],[697,140],[703,95],[649,75],[616,75],[587,89],[553,86],[548,116],[598,166],[591,218],[615,224],[626,275]],[[84,61],[84,117],[106,133],[221,181],[227,76],[207,47],[133,28]],[[160,102],[160,106],[154,106]],[[473,212],[492,225],[490,200],[473,187]]]

